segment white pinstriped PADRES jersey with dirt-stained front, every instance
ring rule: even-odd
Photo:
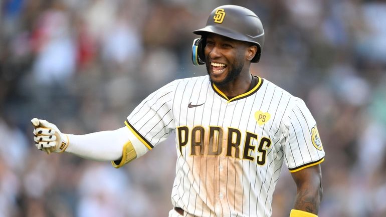
[[[293,172],[324,160],[304,102],[262,78],[232,99],[209,76],[175,80],[125,123],[149,150],[175,132],[171,201],[185,216],[271,216],[283,162]]]

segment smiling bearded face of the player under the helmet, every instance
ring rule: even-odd
[[[242,72],[250,76],[249,62],[256,50],[257,47],[251,44],[208,34],[205,58],[211,81],[217,86],[224,86],[237,79]]]

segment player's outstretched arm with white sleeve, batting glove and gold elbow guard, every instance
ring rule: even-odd
[[[86,159],[112,161],[113,166],[118,168],[147,151],[126,126],[111,131],[72,135],[62,133],[55,124],[46,120],[34,118],[31,122],[35,127],[36,147],[47,153],[68,152]]]

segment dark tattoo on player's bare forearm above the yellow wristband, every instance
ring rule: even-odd
[[[309,189],[300,189],[296,194],[294,208],[317,214],[319,203],[320,199],[317,192],[311,192]]]

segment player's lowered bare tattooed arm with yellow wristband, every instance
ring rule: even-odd
[[[297,193],[291,217],[316,216],[322,200],[322,172],[320,164],[293,172],[292,178],[296,182]]]

